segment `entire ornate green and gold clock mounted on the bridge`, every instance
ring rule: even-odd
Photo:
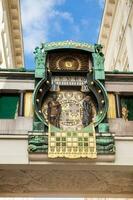
[[[114,137],[103,131],[108,98],[101,49],[73,41],[36,48],[30,153],[48,153],[49,158],[115,153]]]

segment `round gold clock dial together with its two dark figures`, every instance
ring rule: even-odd
[[[48,97],[42,106],[42,113],[49,123],[65,131],[76,131],[92,122],[96,108],[89,95],[80,91],[60,91],[56,101],[55,96]],[[54,112],[52,116],[50,110]],[[56,122],[50,120],[53,116]]]

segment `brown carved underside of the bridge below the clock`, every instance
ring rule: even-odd
[[[65,163],[66,165],[66,163]],[[133,181],[132,171],[123,167],[96,166],[84,169],[83,163],[80,169],[54,164],[36,165],[24,169],[0,170],[0,196],[30,196],[44,197],[54,196],[101,196],[101,197],[132,197]]]

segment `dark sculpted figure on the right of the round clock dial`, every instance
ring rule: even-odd
[[[84,127],[88,126],[92,122],[92,102],[91,97],[86,96],[83,100],[83,119],[82,124]]]

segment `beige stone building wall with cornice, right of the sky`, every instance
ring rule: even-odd
[[[106,0],[99,43],[105,70],[133,71],[133,1]]]

